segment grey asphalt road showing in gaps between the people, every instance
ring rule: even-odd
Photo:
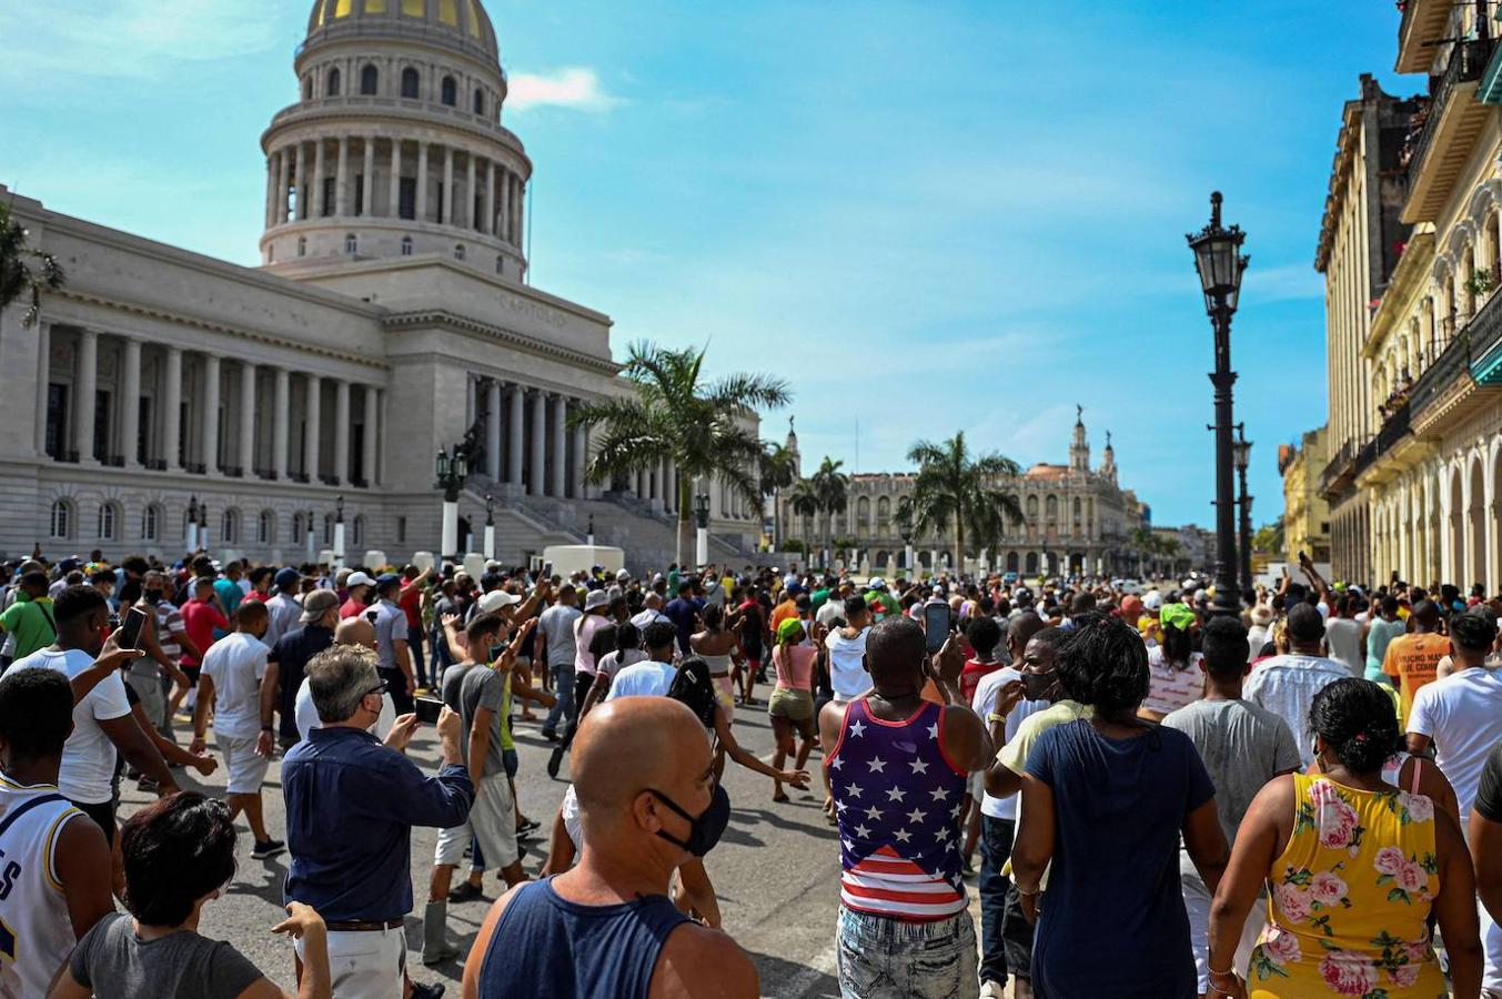
[[[759,696],[768,694],[759,687]],[[743,708],[736,715],[736,738],[753,753],[768,759],[772,751],[772,730],[765,708]],[[517,789],[524,814],[544,823],[545,834],[551,817],[563,798],[568,771],[560,771],[559,780],[547,775],[547,759],[551,744],[538,733],[536,723],[515,723],[517,751],[521,769]],[[188,726],[179,720],[179,741],[188,741]],[[210,750],[213,738],[210,733]],[[433,771],[439,754],[431,729],[419,730],[413,738],[409,756],[421,766]],[[778,999],[796,996],[838,996],[834,978],[834,928],[840,904],[838,877],[840,855],[834,828],[826,825],[820,802],[819,754],[810,760],[814,780],[808,792],[789,789],[792,801],[774,804],[772,784],[768,778],[753,774],[734,763],[727,765],[725,790],[730,793],[733,813],[730,828],[719,846],[709,855],[707,870],[719,895],[724,930],[756,961],[762,975],[762,993]],[[224,768],[209,778],[197,772],[182,775],[185,789],[197,789],[210,795],[224,793]],[[263,789],[266,822],[275,838],[285,838],[285,814],[281,798],[279,760],[272,765]],[[125,783],[122,817],[146,804],[149,796]],[[269,861],[251,859],[251,835],[240,820],[239,873],[230,892],[204,907],[200,931],[206,936],[234,943],[272,981],[285,988],[293,987],[291,945],[269,933],[282,918],[281,889],[287,874],[287,855]],[[422,949],[422,906],[428,892],[428,876],[433,870],[433,846],[436,829],[415,829],[412,834],[412,891],[413,913],[407,918],[407,945],[412,954],[412,975],[416,981],[448,982],[449,996],[458,994],[463,958],[425,967],[419,961]],[[535,876],[542,865],[547,844],[544,840],[527,843],[523,865]],[[457,882],[455,882],[457,883]],[[485,882],[485,901],[470,901],[449,906],[449,934],[457,939],[463,952],[485,915],[502,883],[494,874]]]

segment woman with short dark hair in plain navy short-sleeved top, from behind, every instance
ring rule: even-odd
[[[1149,687],[1139,634],[1113,617],[1075,625],[1057,675],[1093,715],[1033,745],[1012,847],[1023,909],[1039,922],[1033,994],[1194,999],[1179,835],[1215,891],[1229,856],[1215,789],[1188,736],[1136,717]]]

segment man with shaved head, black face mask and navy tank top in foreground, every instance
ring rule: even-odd
[[[578,865],[502,895],[464,963],[466,999],[757,996],[745,952],[668,898],[673,871],[718,837],[709,736],[667,697],[595,708],[572,744]]]

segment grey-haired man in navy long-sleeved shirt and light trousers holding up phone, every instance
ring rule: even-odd
[[[443,709],[443,766],[427,777],[403,750],[416,729],[397,718],[383,745],[368,729],[385,684],[376,656],[333,646],[308,662],[321,729],[282,762],[287,799],[287,901],[312,906],[329,927],[333,994],[403,994],[412,912],[412,826],[448,828],[469,817],[475,787],[460,750],[460,717]]]

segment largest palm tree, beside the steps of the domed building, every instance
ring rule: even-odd
[[[689,512],[697,479],[718,478],[762,511],[757,469],[765,452],[762,440],[742,422],[760,409],[792,400],[781,379],[737,373],[704,383],[703,367],[701,349],[631,344],[620,374],[635,392],[581,406],[569,416],[569,427],[605,425],[586,469],[592,482],[650,472],[662,461],[677,467],[679,563],[692,550]]]

